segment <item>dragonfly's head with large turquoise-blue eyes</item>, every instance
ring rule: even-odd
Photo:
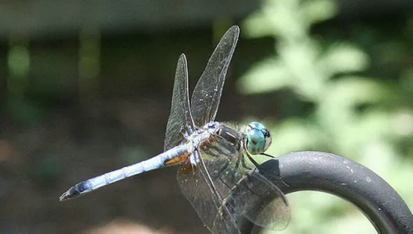
[[[271,134],[261,123],[252,122],[246,127],[245,141],[249,153],[253,155],[263,153],[271,145]]]

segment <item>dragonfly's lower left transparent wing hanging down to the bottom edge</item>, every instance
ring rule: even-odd
[[[211,233],[240,233],[236,215],[226,206],[222,206],[224,198],[231,191],[231,183],[235,184],[233,181],[237,180],[231,178],[226,184],[222,177],[234,175],[234,167],[229,166],[236,160],[239,152],[235,147],[225,144],[218,148],[216,146],[221,144],[217,143],[210,142],[208,147],[194,151],[187,162],[181,165],[178,183],[182,193]]]

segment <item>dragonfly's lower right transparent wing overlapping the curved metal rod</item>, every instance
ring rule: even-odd
[[[241,213],[264,228],[280,231],[290,221],[290,208],[284,193],[256,171],[237,183],[224,204],[227,209]]]

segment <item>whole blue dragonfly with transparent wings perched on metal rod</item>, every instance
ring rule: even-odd
[[[284,229],[290,220],[286,196],[265,176],[251,173],[259,166],[254,156],[269,156],[265,151],[271,145],[271,132],[257,122],[245,126],[215,122],[239,34],[240,28],[234,25],[222,36],[191,100],[187,58],[180,55],[163,153],[75,184],[60,200],[77,198],[145,171],[180,164],[180,189],[211,233],[240,234],[240,217],[264,228]]]

